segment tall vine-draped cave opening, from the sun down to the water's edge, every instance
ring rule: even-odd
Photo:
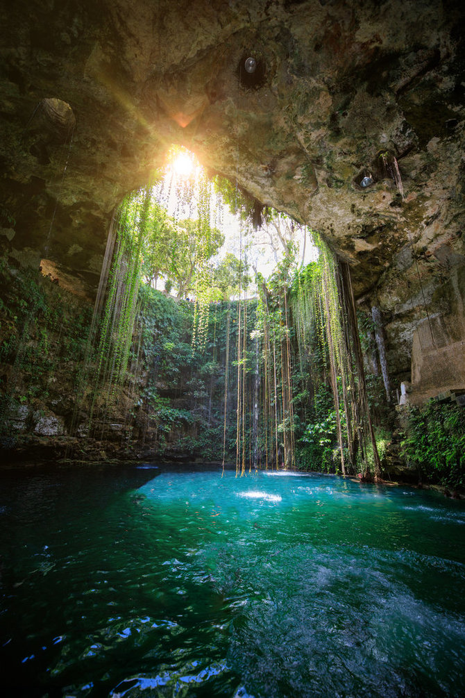
[[[308,225],[266,208],[257,229],[256,214],[182,147],[121,202],[75,431],[241,474],[376,475],[349,267]]]

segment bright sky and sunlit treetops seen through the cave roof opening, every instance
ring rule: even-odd
[[[142,281],[176,299],[207,302],[257,295],[256,276],[318,256],[312,232],[264,207],[238,184],[209,176],[192,151],[171,147],[166,164],[121,205],[132,236],[144,228]]]

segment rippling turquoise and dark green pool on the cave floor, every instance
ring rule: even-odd
[[[323,475],[0,477],[1,695],[465,695],[464,503]]]

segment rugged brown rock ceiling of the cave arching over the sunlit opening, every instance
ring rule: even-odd
[[[47,0],[0,12],[10,258],[46,258],[91,295],[114,207],[182,143],[350,262],[360,304],[381,311],[394,385],[412,378],[416,401],[465,387],[462,3]]]

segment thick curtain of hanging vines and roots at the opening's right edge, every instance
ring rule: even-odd
[[[379,459],[372,429],[367,383],[363,369],[358,322],[346,266],[338,262],[321,238],[312,233],[319,248],[319,258],[294,274],[290,305],[298,343],[300,392],[310,394],[321,384],[328,384],[333,404],[323,413],[312,415],[310,431],[300,436],[300,446],[325,449],[328,462],[330,445],[319,444],[319,437],[328,433],[333,423],[337,436],[337,459],[342,473],[379,474]],[[305,379],[307,376],[307,379]],[[376,395],[373,394],[373,398]],[[330,419],[334,415],[334,419]],[[327,422],[327,420],[330,420]],[[326,431],[325,431],[326,430]],[[363,442],[363,443],[362,443]],[[371,456],[369,452],[371,449]],[[363,463],[360,458],[364,456]],[[333,461],[337,460],[333,457]],[[308,459],[307,459],[308,460]]]

